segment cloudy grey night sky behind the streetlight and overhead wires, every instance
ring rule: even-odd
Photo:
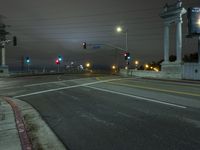
[[[0,15],[11,25],[8,36],[17,36],[18,46],[7,46],[8,64],[18,64],[29,56],[32,64],[53,64],[58,55],[64,62],[113,64],[123,61],[120,51],[87,44],[114,44],[125,47],[125,35],[116,33],[121,25],[128,30],[132,60],[146,63],[163,58],[163,21],[159,17],[165,3],[175,0],[1,0]],[[199,0],[184,0],[183,6],[200,6]],[[175,29],[171,29],[170,53],[175,54]],[[187,18],[183,24],[183,54],[197,52],[197,40],[187,39]],[[120,56],[121,55],[121,56]]]

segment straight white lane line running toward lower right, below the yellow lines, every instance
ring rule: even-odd
[[[186,109],[187,108],[186,106],[182,106],[182,105],[172,104],[172,103],[163,102],[163,101],[159,101],[159,100],[155,100],[155,99],[151,99],[151,98],[145,98],[145,97],[136,96],[136,95],[130,95],[130,94],[116,92],[116,91],[112,91],[112,90],[92,87],[92,86],[89,86],[89,85],[86,85],[85,87],[88,87],[88,88],[91,88],[91,89],[94,89],[94,90],[99,90],[99,91],[103,91],[103,92],[112,93],[112,94],[118,94],[118,95],[132,97],[132,98],[141,99],[141,100],[145,100],[145,101],[150,101],[150,102],[154,102],[154,103],[159,103],[159,104],[164,104],[164,105],[168,105],[168,106],[178,107],[178,108],[182,108],[182,109]]]

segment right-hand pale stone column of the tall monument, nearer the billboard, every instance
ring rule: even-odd
[[[182,62],[182,21],[176,22],[176,62]]]

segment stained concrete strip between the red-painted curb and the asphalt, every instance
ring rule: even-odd
[[[48,124],[42,119],[38,111],[33,108],[29,103],[8,98],[15,105],[18,106],[21,116],[23,117],[24,124],[28,138],[30,139],[32,149],[41,150],[66,150],[67,148],[56,136]]]

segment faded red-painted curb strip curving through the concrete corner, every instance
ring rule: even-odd
[[[7,101],[10,106],[13,109],[14,116],[15,116],[15,121],[16,121],[16,127],[19,133],[20,141],[21,141],[21,146],[22,150],[32,150],[32,145],[30,143],[30,140],[28,138],[27,132],[26,132],[26,127],[24,124],[23,117],[21,115],[21,112],[17,105],[8,97],[3,97],[5,101]]]

